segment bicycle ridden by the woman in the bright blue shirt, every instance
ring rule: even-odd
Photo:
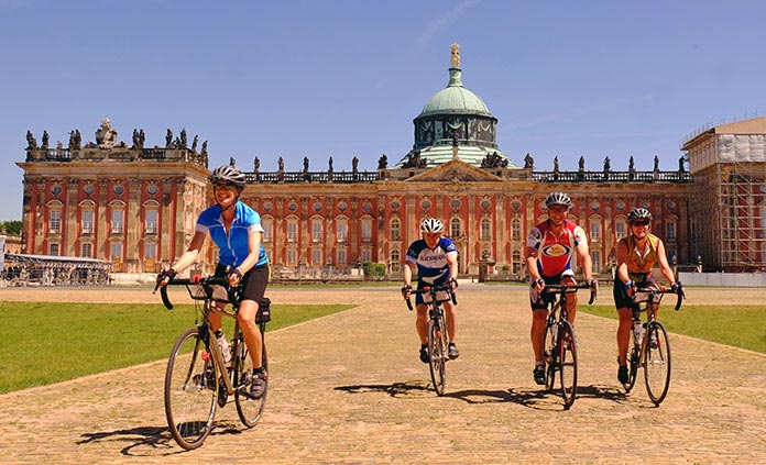
[[[172,279],[167,286],[186,286],[192,299],[201,301],[200,314],[195,326],[185,331],[173,345],[165,372],[165,417],[173,439],[185,450],[197,449],[212,430],[217,407],[225,407],[230,396],[234,397],[237,413],[247,428],[253,428],[261,419],[266,403],[266,383],[263,396],[250,396],[253,364],[242,330],[237,320],[239,309],[239,286],[229,287],[226,277],[195,277],[193,279]],[[158,286],[158,285],[157,285]],[[154,289],[156,291],[156,287]],[[173,309],[167,297],[167,287],[160,287],[162,301],[168,310]],[[216,302],[231,303],[229,309],[219,309]],[[259,324],[262,341],[262,364],[269,369],[264,332],[271,320],[271,301],[264,298],[259,306],[255,322]],[[197,306],[198,312],[200,311]],[[226,364],[215,334],[210,328],[212,311],[234,319],[234,332],[230,343],[231,361]]]

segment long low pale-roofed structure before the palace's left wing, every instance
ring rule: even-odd
[[[6,254],[8,286],[107,285],[112,263],[84,257]]]

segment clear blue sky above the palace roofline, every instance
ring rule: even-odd
[[[21,219],[26,130],[87,142],[103,117],[128,143],[199,134],[211,167],[395,163],[452,42],[516,164],[677,169],[691,132],[766,110],[764,18],[756,0],[0,0],[0,221]]]

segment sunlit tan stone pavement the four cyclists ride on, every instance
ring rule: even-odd
[[[458,295],[461,355],[447,365],[439,398],[397,289],[267,294],[275,303],[358,307],[267,334],[269,401],[254,429],[228,405],[206,443],[184,452],[166,430],[161,361],[0,396],[2,463],[766,462],[764,355],[671,334],[670,391],[655,408],[642,384],[628,396],[617,388],[616,322],[580,312],[580,392],[565,411],[532,380],[526,289],[466,284]],[[715,299],[754,303],[763,289],[749,298],[743,290],[689,295],[686,311]],[[602,289],[598,303],[609,302]]]

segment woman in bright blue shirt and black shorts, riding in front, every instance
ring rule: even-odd
[[[174,266],[160,273],[157,281],[167,283],[176,273],[192,266],[197,261],[205,239],[210,235],[219,248],[216,276],[228,275],[231,286],[242,284],[242,300],[237,320],[254,367],[250,394],[259,398],[263,396],[267,376],[261,363],[261,332],[255,324],[259,302],[263,300],[269,283],[269,258],[261,242],[261,215],[239,199],[245,181],[244,174],[238,168],[219,166],[210,175],[209,181],[212,184],[216,203],[199,214],[187,251]],[[210,325],[216,332],[216,342],[223,346],[222,352],[228,362],[230,354],[226,336],[221,332],[221,314],[212,312]]]

